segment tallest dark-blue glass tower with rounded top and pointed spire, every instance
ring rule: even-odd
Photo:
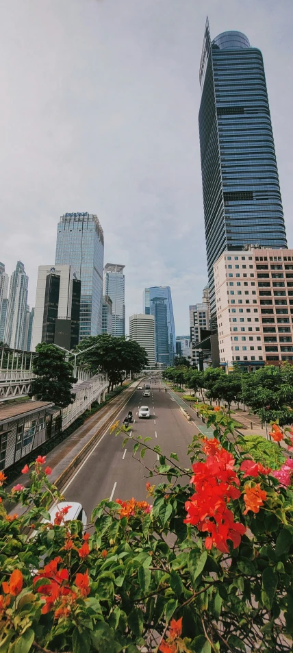
[[[241,32],[211,40],[205,27],[199,71],[199,137],[211,314],[213,265],[246,244],[286,248],[264,62]]]

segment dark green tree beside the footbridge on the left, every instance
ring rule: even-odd
[[[75,395],[71,393],[73,377],[71,363],[66,362],[65,353],[54,345],[41,343],[36,346],[33,372],[37,378],[31,382],[29,397],[36,395],[42,402],[54,402],[60,408],[73,404]]]

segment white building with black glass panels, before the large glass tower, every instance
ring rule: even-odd
[[[81,281],[72,265],[40,265],[31,349],[47,343],[73,349],[78,344]]]

